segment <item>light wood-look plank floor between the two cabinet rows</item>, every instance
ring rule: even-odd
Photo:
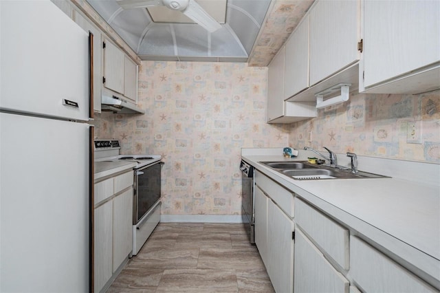
[[[107,292],[274,292],[242,224],[160,223]]]

